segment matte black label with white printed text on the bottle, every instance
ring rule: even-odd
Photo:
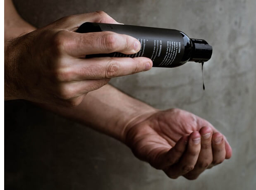
[[[153,66],[172,67],[172,64],[181,61],[184,54],[183,38],[177,30],[118,24],[100,24],[100,28],[102,31],[133,36],[141,43],[141,49],[136,54],[115,52],[113,57],[148,57],[153,61]]]

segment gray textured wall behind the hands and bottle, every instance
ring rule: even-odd
[[[213,46],[201,65],[115,78],[112,85],[160,109],[179,107],[223,132],[233,156],[197,180],[172,180],[137,160],[120,142],[45,112],[5,102],[6,189],[209,189],[256,186],[255,0],[14,0],[37,27],[60,17],[104,10],[125,24],[179,29]]]

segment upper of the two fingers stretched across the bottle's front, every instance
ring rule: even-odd
[[[121,52],[135,54],[141,49],[139,40],[125,34],[110,31],[76,33],[65,31],[63,36],[65,51],[72,57],[85,57],[90,54]]]

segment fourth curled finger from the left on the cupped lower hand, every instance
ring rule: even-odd
[[[221,133],[214,133],[212,137],[213,162],[210,167],[222,163],[225,160],[225,140]]]

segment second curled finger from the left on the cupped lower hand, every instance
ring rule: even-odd
[[[196,161],[201,149],[201,135],[198,131],[194,131],[189,135],[188,146],[181,160],[170,166],[165,173],[170,178],[177,178],[194,169]]]

